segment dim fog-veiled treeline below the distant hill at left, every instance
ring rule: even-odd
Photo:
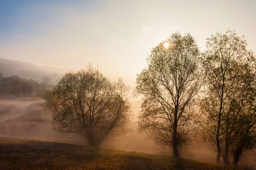
[[[51,79],[43,77],[39,83],[33,79],[25,79],[17,75],[3,77],[0,74],[1,93],[19,97],[40,97],[44,98],[45,89],[52,88]]]

